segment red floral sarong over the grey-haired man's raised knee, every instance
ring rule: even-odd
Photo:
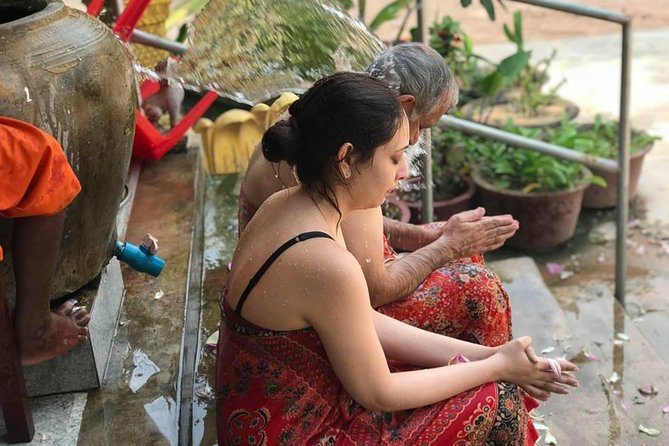
[[[384,240],[384,260],[397,254]],[[415,327],[487,346],[511,339],[511,305],[502,283],[476,255],[449,262],[404,299],[377,310]]]

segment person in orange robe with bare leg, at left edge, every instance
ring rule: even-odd
[[[62,355],[84,342],[90,314],[68,301],[51,311],[51,288],[65,207],[81,186],[60,144],[22,121],[0,117],[0,217],[14,220],[14,324],[23,365]],[[0,266],[2,262],[0,247]],[[0,274],[0,299],[5,299]]]

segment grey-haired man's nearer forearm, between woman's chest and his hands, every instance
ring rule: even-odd
[[[386,265],[386,277],[375,280],[375,286],[370,283],[372,306],[378,307],[408,296],[452,257],[449,249],[432,243],[389,263]]]

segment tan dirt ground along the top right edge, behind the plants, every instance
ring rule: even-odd
[[[628,14],[633,17],[634,29],[654,29],[669,27],[669,8],[664,1],[657,0],[569,0],[598,8],[606,8]],[[388,0],[367,0],[366,18],[371,20],[376,13],[388,3]],[[429,26],[437,17],[450,14],[460,21],[464,31],[469,34],[476,44],[505,42],[502,31],[504,23],[511,23],[513,12],[523,11],[525,40],[553,40],[566,39],[577,36],[595,36],[613,34],[620,31],[620,26],[588,17],[575,16],[560,11],[551,11],[532,5],[520,4],[504,0],[506,10],[494,2],[497,19],[491,22],[476,0],[468,8],[460,5],[460,0],[424,0],[425,22]],[[353,11],[354,15],[355,12]],[[379,30],[379,36],[384,40],[392,40],[397,36],[404,13],[392,22],[387,22]],[[409,19],[408,27],[416,23],[415,14]],[[426,30],[427,31],[427,30]]]

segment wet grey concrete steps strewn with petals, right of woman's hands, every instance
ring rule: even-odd
[[[643,424],[667,430],[661,409],[669,403],[663,404],[663,395],[669,395],[669,368],[614,303],[611,293],[596,289],[586,292],[586,297],[580,295],[581,289],[563,289],[570,299],[561,299],[561,306],[531,258],[507,259],[491,266],[509,292],[514,335],[530,335],[537,352],[554,348],[550,356],[565,355],[581,367],[579,389],[568,396],[554,396],[538,409],[558,444],[667,444],[669,432],[650,437],[638,428]],[[618,339],[622,345],[614,344],[617,333],[629,340]],[[588,359],[584,351],[599,360]],[[620,379],[612,383],[614,371]],[[659,389],[659,395],[642,396],[638,388],[648,384]]]

